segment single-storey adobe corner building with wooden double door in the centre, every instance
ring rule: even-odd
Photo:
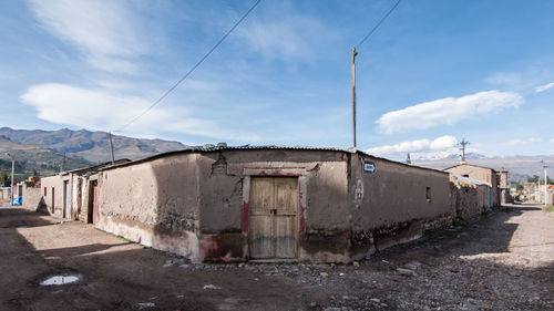
[[[99,229],[194,262],[348,262],[454,215],[448,173],[349,149],[192,148],[95,176]]]

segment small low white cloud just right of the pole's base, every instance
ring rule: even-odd
[[[372,155],[394,155],[394,154],[406,154],[414,152],[427,152],[427,151],[448,151],[455,147],[458,141],[454,136],[445,135],[431,139],[418,139],[410,142],[402,142],[394,145],[384,145],[380,147],[373,147],[366,151],[368,154]]]

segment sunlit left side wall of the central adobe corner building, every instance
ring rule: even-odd
[[[101,172],[96,227],[197,258],[197,156],[166,156]]]

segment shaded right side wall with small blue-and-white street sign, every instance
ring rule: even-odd
[[[372,237],[352,239],[353,258],[417,239],[451,224],[454,214],[448,173],[362,154],[351,156],[349,194],[352,237]]]

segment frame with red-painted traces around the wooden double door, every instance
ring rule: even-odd
[[[298,178],[298,211],[297,211],[297,247],[299,246],[301,234],[306,231],[306,206],[307,206],[307,169],[306,167],[245,167],[243,169],[243,215],[242,229],[243,235],[247,237],[246,248],[247,257],[250,258],[249,231],[250,231],[250,178],[252,177],[297,177]],[[299,250],[299,248],[298,248]],[[296,252],[298,260],[300,251]],[[287,259],[268,259],[264,261],[284,261]]]

